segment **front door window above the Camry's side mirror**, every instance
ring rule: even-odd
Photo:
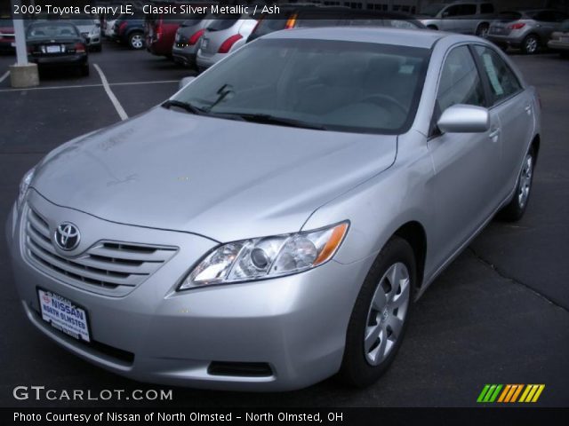
[[[467,46],[448,54],[438,83],[438,113],[455,104],[485,106],[484,86]]]

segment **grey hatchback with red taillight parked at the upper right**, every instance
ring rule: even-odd
[[[550,9],[501,12],[493,21],[488,39],[502,49],[519,48],[525,54],[533,54],[547,46],[551,34],[561,27],[569,15]]]

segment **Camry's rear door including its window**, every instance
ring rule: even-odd
[[[490,110],[498,114],[501,127],[502,162],[500,178],[502,198],[516,185],[517,174],[533,136],[533,91],[524,90],[514,71],[498,51],[485,45],[474,48],[491,94]]]

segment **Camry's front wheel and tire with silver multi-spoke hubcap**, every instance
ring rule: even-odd
[[[393,280],[394,268],[398,280],[397,276]],[[341,382],[361,388],[374,383],[387,371],[405,335],[416,270],[413,248],[407,241],[396,236],[381,249],[365,277],[349,319],[338,374]],[[395,283],[392,284],[392,280]]]

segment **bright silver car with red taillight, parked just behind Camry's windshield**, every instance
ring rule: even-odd
[[[257,20],[246,13],[224,16],[223,20],[212,20],[205,28],[196,54],[196,65],[200,71],[243,46],[257,25]]]

